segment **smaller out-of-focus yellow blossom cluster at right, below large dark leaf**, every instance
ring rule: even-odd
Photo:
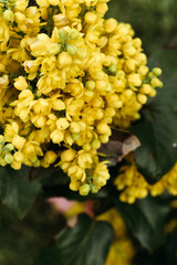
[[[177,163],[157,183],[150,186],[143,174],[137,170],[135,162],[131,159],[128,165],[123,166],[119,174],[114,181],[117,190],[122,191],[119,199],[123,202],[134,203],[136,199],[160,195],[168,191],[171,195],[177,195]]]

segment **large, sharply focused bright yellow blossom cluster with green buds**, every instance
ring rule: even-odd
[[[54,163],[83,195],[106,184],[97,149],[162,87],[131,25],[104,19],[107,2],[0,0],[1,166]]]

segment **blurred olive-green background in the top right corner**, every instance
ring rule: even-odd
[[[177,0],[111,0],[107,18],[128,22],[146,54],[177,46]]]

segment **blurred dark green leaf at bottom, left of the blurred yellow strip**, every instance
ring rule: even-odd
[[[108,223],[81,214],[76,226],[62,230],[55,244],[45,247],[34,265],[105,265],[113,237]]]

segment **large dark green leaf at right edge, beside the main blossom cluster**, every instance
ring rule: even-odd
[[[143,120],[132,127],[142,146],[135,150],[138,170],[149,183],[158,181],[177,161],[177,51],[160,51],[150,64],[163,68],[164,87],[149,100]]]

